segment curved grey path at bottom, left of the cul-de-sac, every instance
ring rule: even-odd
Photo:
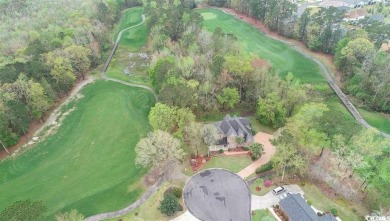
[[[128,206],[124,209],[118,210],[118,211],[114,211],[114,212],[97,214],[97,215],[86,218],[85,221],[98,221],[98,220],[112,219],[112,218],[116,218],[119,216],[123,216],[123,215],[131,212],[135,208],[139,207],[142,203],[144,203],[147,199],[149,199],[149,197],[153,193],[155,193],[158,190],[158,188],[160,188],[161,184],[164,181],[165,181],[165,177],[160,178],[153,186],[151,186],[148,189],[148,191],[140,199],[135,201],[130,206]]]

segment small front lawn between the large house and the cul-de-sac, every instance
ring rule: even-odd
[[[223,168],[237,173],[251,163],[252,163],[251,158],[246,155],[218,156],[218,157],[212,157],[211,160],[201,168],[201,170],[205,170],[209,168]]]

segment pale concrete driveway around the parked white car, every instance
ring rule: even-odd
[[[304,194],[303,190],[298,185],[285,185],[283,187],[286,188],[285,193],[300,193],[302,196]],[[267,209],[273,205],[279,204],[279,201],[281,200],[280,195],[282,194],[275,196],[272,191],[268,192],[264,196],[256,196],[252,194],[252,211],[258,209]]]

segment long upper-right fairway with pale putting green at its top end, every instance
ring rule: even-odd
[[[318,66],[286,44],[267,37],[265,34],[231,15],[218,9],[201,9],[204,27],[210,31],[220,27],[225,33],[233,33],[249,53],[269,60],[282,76],[292,72],[302,82],[326,82]]]

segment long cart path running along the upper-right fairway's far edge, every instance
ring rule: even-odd
[[[234,17],[237,17],[238,14],[236,13],[236,11],[234,10],[229,10],[227,11],[226,9],[223,9],[223,8],[216,8],[216,7],[213,7],[215,9],[219,9],[221,11],[223,11],[224,13],[226,14],[229,14],[229,15],[232,15]],[[233,11],[233,12],[230,12],[230,11]],[[341,100],[341,102],[344,104],[344,106],[348,109],[348,111],[352,114],[352,116],[356,119],[356,121],[361,124],[363,127],[365,128],[374,128],[376,130],[379,131],[379,133],[383,136],[383,137],[386,137],[386,138],[390,138],[390,134],[387,134],[383,131],[380,131],[378,128],[376,127],[373,127],[371,126],[369,123],[367,123],[367,121],[362,117],[362,115],[359,113],[359,111],[355,108],[355,106],[352,104],[352,102],[348,99],[348,97],[344,94],[344,92],[339,88],[339,86],[337,86],[337,84],[333,81],[333,78],[328,70],[328,68],[324,65],[324,63],[322,63],[320,60],[318,60],[317,58],[311,56],[310,54],[306,53],[304,50],[300,49],[299,47],[297,47],[293,42],[291,41],[286,41],[286,40],[283,40],[283,39],[280,39],[278,37],[274,37],[272,35],[269,35],[268,33],[264,32],[262,29],[259,29],[258,27],[256,27],[255,25],[253,25],[251,22],[248,21],[246,15],[241,15],[240,14],[240,17],[243,17],[243,21],[247,22],[248,24],[252,25],[254,28],[260,30],[261,32],[263,32],[266,36],[274,39],[274,40],[277,40],[277,41],[280,41],[280,42],[283,42],[285,44],[288,44],[290,45],[292,48],[294,48],[297,52],[301,53],[303,56],[311,59],[312,61],[314,61],[321,69],[321,72],[322,74],[324,75],[326,81],[328,82],[329,86],[332,88],[332,90],[336,93],[336,95],[339,97],[339,99]]]

